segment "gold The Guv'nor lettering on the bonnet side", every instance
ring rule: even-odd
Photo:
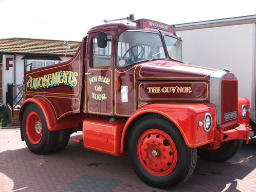
[[[191,87],[148,87],[148,93],[192,93]]]

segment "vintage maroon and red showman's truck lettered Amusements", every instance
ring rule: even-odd
[[[183,63],[174,26],[127,19],[90,29],[70,61],[25,72],[22,140],[44,154],[82,131],[85,148],[128,155],[142,181],[175,187],[197,155],[226,161],[249,141],[249,101],[228,69]]]

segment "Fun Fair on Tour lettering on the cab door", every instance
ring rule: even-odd
[[[104,83],[106,85],[109,85],[110,79],[106,78],[105,76],[93,76],[92,78],[89,79],[89,84],[92,85],[94,83]],[[101,92],[102,91],[102,85],[96,85],[94,87],[94,90],[97,92]],[[92,92],[92,99],[96,100],[96,101],[105,101],[107,99],[106,94],[96,94],[94,92]]]

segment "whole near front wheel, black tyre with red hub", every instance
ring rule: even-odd
[[[137,176],[162,189],[185,182],[197,159],[196,148],[189,148],[177,127],[158,114],[149,114],[133,126],[128,155]]]

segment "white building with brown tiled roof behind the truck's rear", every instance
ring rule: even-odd
[[[0,97],[4,103],[6,104],[8,84],[14,85],[14,98],[19,94],[17,86],[23,86],[24,70],[67,61],[76,53],[80,43],[24,38],[0,39]]]

